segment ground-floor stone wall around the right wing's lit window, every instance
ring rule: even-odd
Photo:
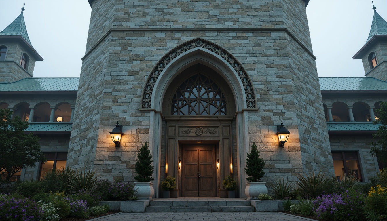
[[[370,135],[330,135],[330,148],[332,151],[355,151],[359,152],[359,159],[361,174],[363,175],[363,181],[368,182],[368,179],[372,176],[376,176],[378,173],[378,166],[375,158],[370,154],[370,142],[372,140]],[[362,164],[363,163],[363,164]],[[365,171],[363,171],[365,168]]]

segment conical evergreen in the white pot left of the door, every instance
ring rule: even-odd
[[[134,167],[134,170],[138,174],[135,176],[135,180],[139,183],[147,183],[154,180],[152,174],[154,172],[154,166],[152,166],[152,155],[151,150],[149,150],[147,143],[145,143],[141,148],[140,152],[137,154],[137,162]]]

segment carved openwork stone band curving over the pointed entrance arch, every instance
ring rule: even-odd
[[[168,63],[170,63],[173,59],[178,57],[178,55],[186,51],[192,50],[194,48],[204,48],[206,50],[209,50],[213,53],[216,53],[217,55],[222,57],[226,62],[228,62],[231,65],[231,67],[233,67],[235,72],[238,74],[238,77],[240,78],[242,85],[245,89],[247,108],[255,108],[255,105],[256,105],[255,93],[253,91],[253,86],[252,86],[250,77],[248,77],[246,70],[236,60],[236,58],[233,57],[226,50],[204,39],[194,39],[194,40],[188,41],[187,43],[184,43],[183,45],[176,47],[168,54],[164,55],[164,57],[156,64],[156,66],[154,67],[154,69],[152,70],[151,74],[147,79],[144,91],[142,93],[142,108],[144,109],[151,108],[151,99],[152,99],[154,85],[156,84],[156,81],[159,75],[161,74],[161,72],[163,72],[164,68],[168,65]]]

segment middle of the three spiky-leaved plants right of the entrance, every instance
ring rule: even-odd
[[[315,175],[315,172],[298,175],[298,181],[296,181],[296,184],[299,188],[303,189],[310,197],[315,198],[316,197],[316,190],[317,185],[319,185],[325,178],[324,173],[321,173],[321,171]]]

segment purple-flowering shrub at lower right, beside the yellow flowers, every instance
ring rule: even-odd
[[[314,211],[327,220],[359,220],[363,216],[365,195],[357,190],[346,190],[341,194],[317,197]]]

